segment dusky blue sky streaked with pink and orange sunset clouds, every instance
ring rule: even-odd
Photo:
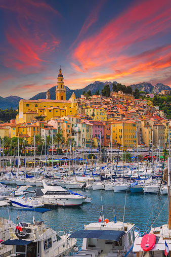
[[[170,0],[1,0],[0,96],[94,81],[171,86]]]

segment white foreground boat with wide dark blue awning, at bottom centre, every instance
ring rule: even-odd
[[[81,250],[73,256],[134,256],[135,238],[139,237],[139,229],[132,223],[120,221],[95,222],[84,225],[84,230],[72,233],[69,238],[83,238]]]

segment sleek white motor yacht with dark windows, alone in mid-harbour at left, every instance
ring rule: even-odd
[[[49,205],[56,206],[76,206],[83,203],[85,197],[70,194],[61,186],[48,186],[42,180],[44,188],[36,190],[35,199]]]

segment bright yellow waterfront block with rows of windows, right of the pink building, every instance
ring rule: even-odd
[[[132,121],[114,121],[112,124],[113,143],[122,145],[122,124],[123,124],[123,143],[124,147],[134,147],[136,144],[136,127],[137,123]]]

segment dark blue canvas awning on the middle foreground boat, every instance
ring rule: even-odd
[[[98,238],[112,241],[119,241],[125,235],[124,231],[118,230],[78,230],[72,233],[70,238]]]

